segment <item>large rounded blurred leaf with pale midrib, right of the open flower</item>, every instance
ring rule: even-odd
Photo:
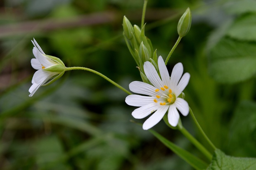
[[[209,73],[220,83],[237,83],[256,73],[256,44],[223,38],[210,50]]]

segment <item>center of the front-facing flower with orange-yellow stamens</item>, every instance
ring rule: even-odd
[[[158,99],[161,99],[161,101],[164,100],[164,102],[159,103],[161,106],[164,106],[166,104],[173,104],[176,100],[175,94],[173,94],[172,90],[166,85],[164,85],[164,87],[161,87],[160,89],[156,89],[155,92],[158,93],[156,95],[156,99],[154,99],[155,103],[158,103]]]

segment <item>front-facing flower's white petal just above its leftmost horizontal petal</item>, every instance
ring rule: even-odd
[[[156,87],[141,81],[133,81],[129,84],[130,91],[138,94],[145,94],[149,96],[156,96]]]

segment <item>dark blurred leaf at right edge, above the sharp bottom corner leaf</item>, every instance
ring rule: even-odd
[[[244,101],[239,104],[230,123],[227,149],[232,155],[256,157],[255,122],[256,103]]]

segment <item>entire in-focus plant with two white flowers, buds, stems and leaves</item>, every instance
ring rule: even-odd
[[[168,70],[169,65],[168,67],[166,66],[180,40],[190,31],[192,23],[190,8],[187,8],[178,21],[178,40],[173,45],[169,54],[161,57],[156,54],[156,49],[153,48],[151,40],[145,35],[146,24],[144,23],[144,20],[146,5],[147,0],[144,1],[140,27],[132,25],[126,16],[123,17],[123,38],[130,54],[137,64],[137,68],[133,69],[137,69],[138,74],[141,77],[141,81],[133,81],[129,84],[130,91],[135,94],[132,94],[102,73],[90,68],[66,67],[59,58],[45,54],[36,40],[33,39],[33,54],[36,58],[31,59],[31,66],[37,71],[32,78],[32,86],[28,90],[30,92],[29,96],[33,96],[39,87],[50,85],[55,82],[62,77],[66,71],[90,71],[126,92],[128,94],[125,99],[126,104],[138,107],[132,111],[131,115],[135,119],[142,119],[149,116],[142,125],[143,130],[151,132],[193,168],[197,170],[244,170],[247,168],[250,169],[249,167],[256,168],[256,159],[226,156],[222,151],[216,148],[199,125],[190,108],[190,104],[187,102],[188,100],[185,100],[183,90],[185,90],[185,87],[187,87],[190,81],[190,73],[183,74],[184,70],[186,71],[187,69],[183,68],[181,62],[177,64],[172,62],[173,65],[175,64],[172,71]],[[193,77],[191,79],[193,79]],[[194,92],[194,94],[196,94],[196,92]],[[194,123],[200,132],[201,138],[204,140],[203,143],[199,142],[185,129],[182,123],[184,117],[180,116],[180,114],[183,116],[190,115],[192,117],[192,120],[194,120]],[[185,149],[182,149],[180,146],[152,130],[151,128],[162,119],[166,123],[166,127],[170,127],[173,130],[179,130],[204,157],[197,157],[194,154],[187,152]],[[131,121],[141,125],[136,122],[137,120]],[[145,133],[145,131],[141,131],[141,133]]]

